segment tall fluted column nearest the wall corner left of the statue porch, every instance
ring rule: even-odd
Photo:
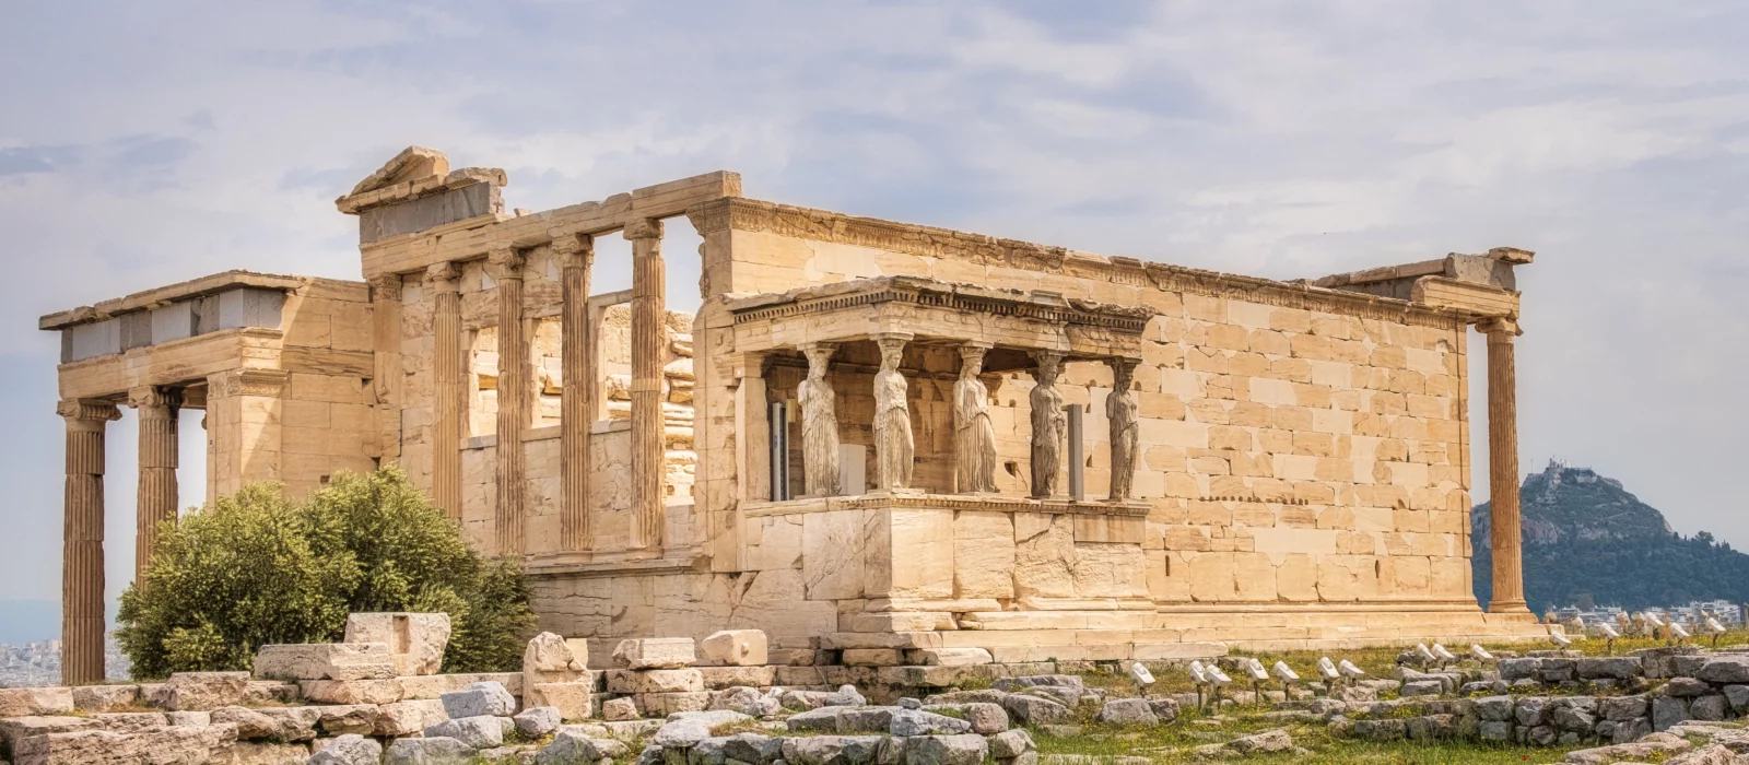
[[[668,362],[666,265],[661,220],[635,220],[631,241],[631,545],[663,545],[663,365]]]

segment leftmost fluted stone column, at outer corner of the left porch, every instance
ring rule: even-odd
[[[103,428],[110,402],[65,400],[66,527],[61,547],[61,685],[103,681]]]

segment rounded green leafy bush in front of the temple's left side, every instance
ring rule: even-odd
[[[353,611],[444,611],[444,671],[519,667],[528,583],[484,559],[397,468],[336,475],[292,503],[268,484],[166,524],[122,594],[117,638],[136,678],[250,669],[268,643],[334,643]]]

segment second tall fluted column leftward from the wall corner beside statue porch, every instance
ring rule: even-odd
[[[560,281],[560,473],[565,496],[560,510],[560,547],[593,550],[589,526],[589,426],[595,423],[595,344],[589,335],[589,267],[595,239],[553,239]]]

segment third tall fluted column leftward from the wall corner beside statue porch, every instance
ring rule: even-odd
[[[498,477],[497,531],[500,554],[521,554],[523,540],[523,431],[533,369],[528,367],[528,332],[523,327],[523,253],[505,248],[490,255],[498,283]]]

